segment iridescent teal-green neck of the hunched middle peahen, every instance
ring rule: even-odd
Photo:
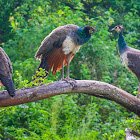
[[[78,36],[80,45],[86,43],[91,38],[91,34],[89,33],[89,31],[82,28],[78,29]]]

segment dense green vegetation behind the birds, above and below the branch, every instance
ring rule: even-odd
[[[140,47],[138,0],[0,0],[0,46],[9,55],[16,88],[28,86],[39,61],[34,58],[41,41],[65,24],[89,24],[99,31],[83,45],[71,62],[71,77],[100,80],[136,95],[138,81],[125,68],[117,50],[117,33],[123,24],[127,44]],[[49,74],[45,83],[61,78]],[[140,119],[122,106],[83,94],[0,109],[0,137],[41,140],[124,140],[130,127],[140,133]]]

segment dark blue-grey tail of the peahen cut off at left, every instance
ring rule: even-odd
[[[11,78],[7,77],[1,77],[2,84],[6,87],[6,90],[8,91],[9,95],[11,97],[15,96],[15,86]]]

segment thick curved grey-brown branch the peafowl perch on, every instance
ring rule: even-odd
[[[140,99],[113,85],[93,80],[58,81],[48,85],[18,89],[13,98],[7,91],[0,91],[0,107],[34,102],[68,93],[84,93],[112,100],[140,117]]]

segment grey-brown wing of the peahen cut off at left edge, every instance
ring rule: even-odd
[[[12,72],[11,61],[5,51],[0,47],[0,75],[11,77]]]

